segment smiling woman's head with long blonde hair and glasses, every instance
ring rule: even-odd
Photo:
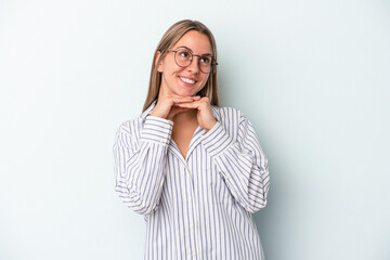
[[[198,41],[195,42],[197,44],[194,44],[194,41]],[[187,53],[183,54],[180,52],[178,53],[177,51],[182,51],[183,47],[188,48],[188,46],[191,46],[188,50],[190,53],[194,54],[193,62],[188,66],[183,66],[183,64],[180,64],[179,57],[184,56]],[[196,50],[192,50],[191,48]],[[202,53],[198,53],[198,51],[202,51]],[[212,55],[212,60],[210,61],[211,70],[209,72],[207,65],[204,65],[205,62],[208,61],[207,57],[210,54]],[[196,55],[202,55],[202,57]],[[194,75],[197,75],[194,77],[196,77],[195,80],[199,80],[197,82],[198,92],[194,94],[208,96],[211,105],[219,105],[216,64],[217,46],[211,31],[204,24],[196,21],[184,20],[176,23],[166,31],[157,46],[152,64],[148,93],[143,110],[145,110],[151,103],[158,98],[161,84],[168,86],[169,82],[173,82],[170,81],[172,79],[170,72],[172,72],[171,68],[173,66],[176,66],[176,70],[179,72],[179,75],[174,74],[174,77],[185,77],[188,75],[187,73],[194,73]],[[180,69],[183,72],[180,72]],[[192,72],[192,69],[198,70]],[[179,77],[177,78],[177,80],[179,80]],[[186,79],[184,78],[184,80]],[[176,83],[172,83],[172,86],[176,86]]]

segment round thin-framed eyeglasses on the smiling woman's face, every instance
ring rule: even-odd
[[[214,61],[211,54],[196,55],[186,48],[181,48],[176,51],[167,51],[174,53],[174,62],[179,67],[187,67],[194,60],[194,56],[198,56],[198,66],[204,74],[210,74],[218,63]]]

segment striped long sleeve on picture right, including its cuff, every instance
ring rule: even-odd
[[[234,125],[230,122],[231,125]],[[203,145],[238,204],[249,212],[266,205],[270,187],[268,159],[260,147],[251,123],[238,113],[238,130],[233,138],[223,125],[216,126],[204,135]]]

